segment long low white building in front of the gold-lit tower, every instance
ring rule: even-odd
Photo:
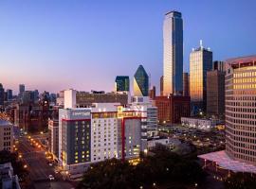
[[[181,117],[181,125],[185,127],[210,131],[210,129],[216,127],[216,121],[194,117]]]

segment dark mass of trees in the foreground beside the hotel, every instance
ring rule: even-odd
[[[202,168],[194,160],[179,156],[163,146],[156,146],[154,154],[141,156],[136,166],[117,159],[95,163],[84,173],[78,188],[153,188],[154,183],[177,183],[183,187],[205,178]]]

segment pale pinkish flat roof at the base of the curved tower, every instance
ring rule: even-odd
[[[247,172],[256,174],[255,165],[233,160],[229,157],[225,150],[211,152],[208,154],[199,155],[197,157],[210,162],[215,162],[222,168],[233,172]]]

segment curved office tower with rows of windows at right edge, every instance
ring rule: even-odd
[[[256,165],[256,56],[227,60],[226,72],[226,152]]]

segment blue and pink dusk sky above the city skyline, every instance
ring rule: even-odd
[[[184,71],[203,40],[213,60],[256,54],[255,0],[0,1],[0,83],[59,92],[114,89],[139,64],[159,92],[164,14],[184,23]],[[131,85],[132,87],[132,85]]]

